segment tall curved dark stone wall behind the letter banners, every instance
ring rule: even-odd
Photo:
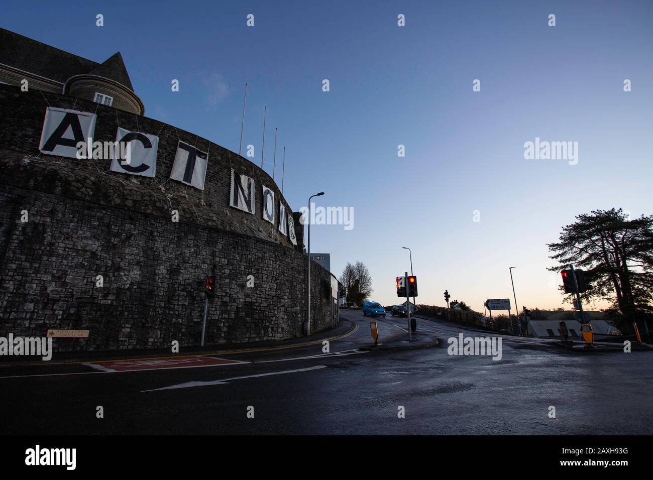
[[[158,133],[157,176],[110,172],[108,160],[39,155],[48,103],[97,108],[95,140],[115,140],[118,122]],[[263,170],[170,125],[70,97],[2,85],[0,111],[0,336],[72,328],[90,330],[88,340],[56,340],[56,349],[196,345],[204,278],[214,268],[207,344],[300,336],[306,312],[301,226],[295,247],[262,219],[261,182],[292,212]],[[204,191],[168,181],[178,138],[209,152]],[[229,207],[231,168],[255,179],[255,215]],[[179,222],[171,210],[178,210]],[[330,274],[312,267],[317,331],[331,326]],[[99,275],[103,287],[96,286]]]

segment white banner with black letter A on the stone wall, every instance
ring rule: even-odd
[[[77,144],[87,139],[93,143],[95,135],[95,114],[52,108],[45,110],[39,150],[41,153],[59,157],[77,158]],[[86,148],[83,151],[86,155]]]

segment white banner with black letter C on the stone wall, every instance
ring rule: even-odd
[[[127,147],[127,159],[121,159],[120,144]],[[118,127],[116,132],[116,148],[111,161],[111,171],[153,177],[157,170],[157,150],[159,137],[147,133],[131,132]]]

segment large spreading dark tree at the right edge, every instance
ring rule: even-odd
[[[593,210],[577,216],[563,227],[560,242],[547,246],[559,263],[549,270],[573,264],[590,271],[593,286],[582,299],[609,300],[629,322],[653,311],[653,216],[630,220],[621,208]]]

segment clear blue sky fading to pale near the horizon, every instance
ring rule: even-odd
[[[351,231],[313,227],[311,250],[337,276],[364,262],[383,304],[409,246],[421,303],[449,289],[482,311],[512,298],[517,266],[520,307],[563,306],[545,245],[561,227],[597,208],[653,211],[653,2],[105,4],[10,2],[0,25],[94,61],[120,51],[146,116],[236,152],[248,82],[244,145],[260,160],[268,105],[265,167],[278,127],[293,209],[318,191],[354,209]],[[536,136],[579,142],[578,165],[525,160]]]

